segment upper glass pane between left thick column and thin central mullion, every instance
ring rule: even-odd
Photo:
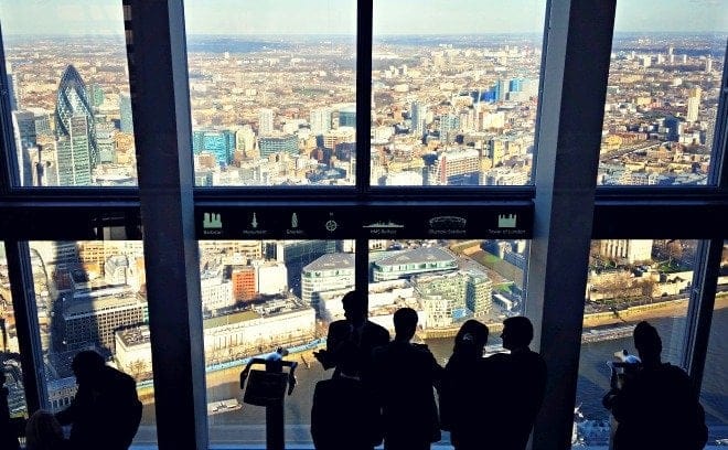
[[[354,184],[356,2],[185,1],[195,184]]]

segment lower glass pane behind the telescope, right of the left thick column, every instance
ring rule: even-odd
[[[329,377],[313,351],[325,339],[323,306],[354,286],[347,240],[201,240],[200,270],[211,443],[263,444],[264,407],[243,403],[240,372],[283,347],[299,364],[285,400],[287,444],[311,443],[313,386]],[[264,369],[254,365],[253,369]]]

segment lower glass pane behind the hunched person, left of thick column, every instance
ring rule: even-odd
[[[95,350],[137,381],[136,443],[156,443],[149,310],[141,240],[29,243],[51,410],[76,394],[71,362]]]

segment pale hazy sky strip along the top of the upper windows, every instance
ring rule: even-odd
[[[188,0],[190,33],[353,34],[355,1]],[[377,34],[540,31],[545,0],[374,0]],[[122,34],[121,0],[0,0],[3,34]],[[619,0],[617,31],[728,32],[728,0]]]

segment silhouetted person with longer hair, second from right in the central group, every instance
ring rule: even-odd
[[[452,355],[445,366],[440,388],[440,426],[450,431],[457,450],[482,448],[481,422],[486,400],[486,378],[483,374],[483,350],[488,343],[488,326],[468,320],[454,339]]]

